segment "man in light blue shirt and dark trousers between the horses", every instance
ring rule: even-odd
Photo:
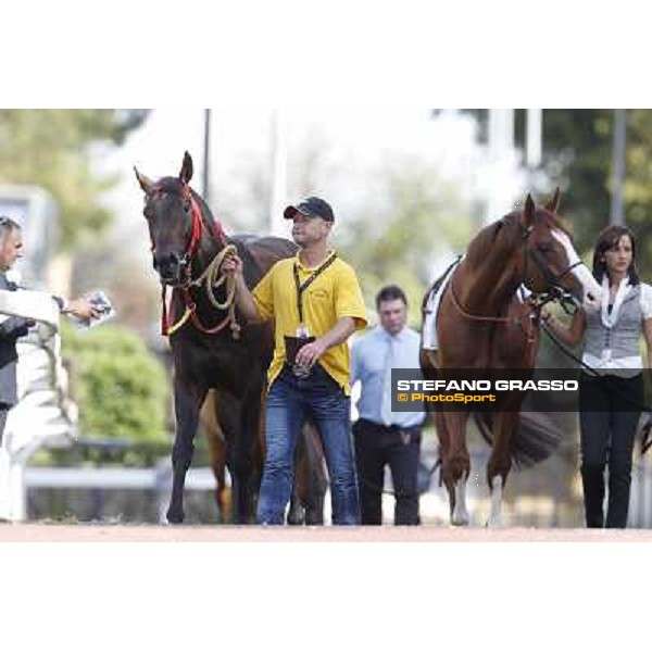
[[[391,369],[418,368],[418,334],[406,326],[408,300],[398,286],[376,296],[380,324],[353,343],[351,386],[361,383],[353,424],[362,525],[383,523],[383,479],[389,464],[394,525],[418,525],[417,469],[423,412],[391,411]]]

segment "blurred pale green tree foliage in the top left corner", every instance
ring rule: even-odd
[[[91,168],[91,146],[121,145],[146,116],[139,109],[2,109],[0,183],[47,188],[61,208],[60,248],[72,250],[111,222],[99,197],[116,179]]]

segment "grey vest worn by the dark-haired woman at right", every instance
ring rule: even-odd
[[[640,355],[643,312],[641,310],[641,286],[631,288],[620,304],[616,323],[607,328],[600,312],[587,314],[585,353],[602,358],[604,349],[612,350],[612,359]]]

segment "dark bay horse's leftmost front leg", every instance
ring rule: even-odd
[[[206,396],[206,388],[201,388],[183,380],[174,379],[174,408],[176,416],[176,434],[172,449],[172,498],[167,509],[168,523],[184,521],[184,485],[186,473],[192,462],[195,451],[195,434],[199,424],[199,411]]]

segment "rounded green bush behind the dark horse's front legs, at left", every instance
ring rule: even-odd
[[[84,437],[167,441],[170,383],[163,365],[126,328],[103,325],[62,333]]]

